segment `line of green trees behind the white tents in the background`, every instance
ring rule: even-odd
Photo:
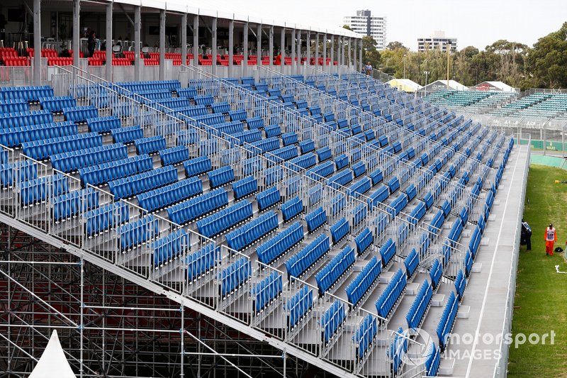
[[[376,50],[374,38],[362,38],[363,62],[370,62],[395,77],[404,76],[425,85],[427,81],[447,79],[447,53],[440,50],[410,51],[397,41],[386,50]],[[468,46],[451,52],[449,79],[467,87],[484,81],[500,81],[520,88],[567,88],[567,22],[549,35],[539,38],[532,47],[524,43],[497,40],[484,50]]]

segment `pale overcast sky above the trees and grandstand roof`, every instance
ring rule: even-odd
[[[531,46],[567,21],[567,0],[191,0],[191,6],[322,28],[341,27],[343,16],[370,9],[388,18],[388,42],[399,40],[412,50],[418,37],[434,30],[458,38],[459,50],[484,49],[499,39]]]

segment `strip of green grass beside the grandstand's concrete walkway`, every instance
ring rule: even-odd
[[[509,377],[567,377],[567,272],[563,253],[546,256],[544,230],[557,229],[556,247],[567,240],[567,171],[532,165],[524,218],[532,227],[532,250],[520,248],[512,333],[555,332],[554,345],[510,346]],[[549,339],[548,339],[549,340]]]

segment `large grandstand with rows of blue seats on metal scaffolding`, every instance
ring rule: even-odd
[[[358,73],[344,35],[335,65],[291,29],[277,67],[267,28],[252,70],[162,38],[142,66],[139,31],[103,77],[10,68],[35,85],[0,90],[0,368],[27,376],[57,328],[82,376],[505,375],[507,345],[449,335],[510,330],[527,146]]]

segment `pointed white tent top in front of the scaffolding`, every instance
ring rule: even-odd
[[[49,343],[43,351],[43,355],[35,365],[29,378],[77,378],[67,362],[67,357],[61,348],[61,343],[57,337],[57,330],[53,330]]]

